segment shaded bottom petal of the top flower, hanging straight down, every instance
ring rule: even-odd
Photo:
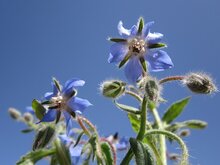
[[[125,66],[125,76],[128,81],[136,83],[142,74],[142,67],[137,57],[132,57]]]

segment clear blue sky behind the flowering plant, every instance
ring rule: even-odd
[[[206,71],[220,81],[220,2],[218,0],[1,0],[0,1],[0,164],[12,165],[31,148],[33,134],[21,134],[22,123],[12,121],[8,107],[22,111],[34,98],[51,90],[51,77],[61,82],[72,77],[86,81],[79,96],[94,106],[85,115],[101,135],[119,131],[133,135],[125,113],[102,97],[98,84],[105,79],[124,79],[123,71],[107,63],[108,36],[118,36],[117,24],[155,21],[154,32],[165,35],[167,52],[175,67],[163,76]],[[219,162],[219,94],[199,96],[177,83],[164,87],[168,103],[192,95],[178,121],[202,119],[203,131],[185,138],[193,165]]]

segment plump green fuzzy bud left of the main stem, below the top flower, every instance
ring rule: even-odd
[[[105,97],[117,98],[125,91],[125,83],[119,80],[105,81],[101,84],[100,89]]]

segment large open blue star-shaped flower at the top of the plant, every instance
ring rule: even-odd
[[[163,71],[173,67],[168,54],[160,50],[166,47],[166,44],[160,42],[163,34],[150,32],[153,23],[144,25],[143,18],[140,18],[138,25],[128,30],[120,21],[118,31],[123,38],[109,39],[115,43],[110,48],[108,62],[119,63],[119,68],[126,64],[125,76],[130,82],[135,83],[141,75],[144,76],[147,67],[149,71]]]

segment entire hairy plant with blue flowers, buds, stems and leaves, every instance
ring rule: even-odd
[[[33,100],[32,107],[28,107],[24,114],[9,108],[13,119],[28,126],[22,130],[23,133],[35,131],[36,134],[32,151],[21,157],[18,165],[35,164],[43,158],[47,158],[51,165],[91,162],[100,165],[115,165],[119,162],[121,165],[132,162],[137,165],[167,165],[168,159],[176,160],[181,165],[189,164],[188,149],[182,137],[189,135],[189,129],[203,129],[207,123],[194,119],[175,122],[190,97],[173,103],[161,117],[158,107],[165,101],[161,89],[171,81],[179,81],[197,94],[211,94],[217,88],[210,76],[204,73],[189,73],[161,80],[150,75],[150,72],[173,67],[170,57],[162,50],[167,47],[161,42],[163,34],[150,31],[153,23],[144,24],[143,18],[140,18],[137,25],[126,29],[119,22],[121,37],[109,38],[113,44],[108,62],[116,63],[119,68],[124,67],[128,82],[108,80],[100,86],[101,93],[126,112],[136,137],[120,138],[118,133],[101,137],[94,124],[83,116],[84,110],[92,104],[76,96],[77,88],[85,82],[73,78],[62,87],[53,78],[53,92],[46,93],[43,100]],[[119,103],[119,98],[124,95],[133,97],[139,106]],[[167,141],[176,141],[182,154],[169,153]],[[123,158],[119,159],[119,151],[124,151]]]

